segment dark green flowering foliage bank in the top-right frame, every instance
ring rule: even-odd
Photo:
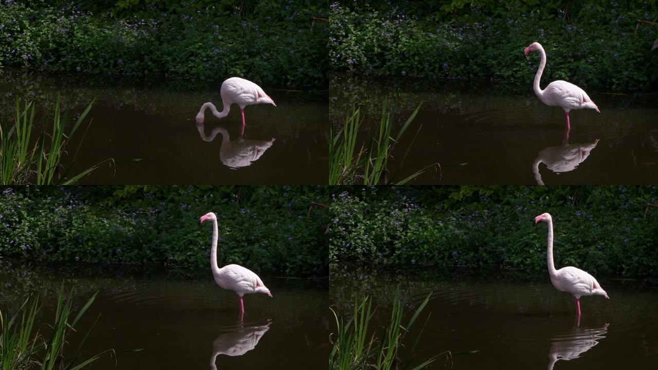
[[[415,12],[398,7],[352,10],[332,5],[331,68],[529,85],[539,59],[524,57],[522,51],[539,41],[548,57],[542,86],[569,80],[592,89],[657,87],[658,54],[650,50],[655,29],[640,26],[635,32],[638,18],[658,17],[656,8],[647,2],[615,7],[607,1],[594,5],[557,1],[536,7],[532,1],[515,1],[496,11],[488,5],[492,2],[440,1],[440,12],[425,9],[418,15],[408,15]],[[569,11],[569,7],[580,10]],[[559,9],[579,15],[567,18]]]

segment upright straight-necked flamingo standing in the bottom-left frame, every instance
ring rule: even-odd
[[[242,296],[252,293],[263,293],[272,297],[270,290],[263,284],[263,280],[253,271],[240,265],[226,265],[221,269],[217,266],[217,216],[209,212],[201,216],[199,226],[204,221],[213,222],[213,244],[210,251],[210,267],[213,270],[215,282],[223,289],[233,290],[238,294],[238,304],[240,304],[240,313],[244,313],[245,305]]]

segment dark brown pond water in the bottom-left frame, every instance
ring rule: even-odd
[[[328,278],[261,276],[273,298],[245,296],[240,319],[236,294],[220,289],[210,271],[190,277],[128,267],[53,270],[6,262],[0,267],[0,307],[15,307],[30,292],[37,293],[43,304],[39,320],[48,323],[62,282],[75,288],[78,308],[99,292],[76,329],[82,336],[98,317],[84,343],[84,354],[110,348],[117,354],[116,363],[106,356],[91,369],[326,366],[332,323]],[[68,350],[77,348],[80,336],[72,336]]]

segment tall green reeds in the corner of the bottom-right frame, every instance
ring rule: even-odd
[[[373,314],[370,297],[360,300],[359,296],[355,295],[354,309],[350,319],[346,319],[344,316],[338,317],[336,311],[332,309],[336,319],[337,332],[335,336],[332,334],[334,346],[329,355],[330,370],[419,370],[424,369],[439,357],[451,359],[451,353],[446,351],[411,367],[409,363],[404,363],[398,357],[399,348],[403,346],[405,337],[422,309],[429,302],[431,295],[432,293],[428,294],[407,324],[403,325],[405,300],[401,298],[398,287],[393,299],[390,321],[379,336],[376,336],[374,332],[371,333],[372,330],[370,330]],[[411,349],[411,353],[414,352],[414,348],[415,346]]]

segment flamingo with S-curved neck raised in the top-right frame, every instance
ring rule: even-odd
[[[544,51],[542,44],[538,42],[531,43],[530,46],[524,49],[523,53],[527,56],[530,51],[539,51],[542,56],[532,88],[542,103],[553,107],[562,107],[562,109],[565,110],[565,117],[567,117],[567,132],[571,130],[571,125],[569,123],[569,111],[571,109],[587,108],[594,109],[601,113],[599,107],[594,104],[594,101],[590,99],[584,90],[567,81],[553,81],[542,90],[539,87],[539,80],[542,78],[542,72],[544,72],[544,67],[546,66],[546,52]]]

